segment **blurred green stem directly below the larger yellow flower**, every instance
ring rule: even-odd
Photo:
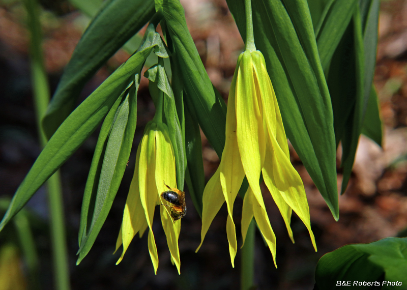
[[[242,248],[242,260],[240,265],[241,290],[249,290],[253,287],[255,227],[256,223],[252,219],[247,230],[245,244]]]

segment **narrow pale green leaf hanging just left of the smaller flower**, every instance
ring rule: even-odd
[[[120,104],[111,123],[111,131],[105,147],[103,164],[100,169],[95,203],[91,206],[92,211],[85,209],[81,213],[81,221],[85,221],[86,224],[83,226],[77,265],[92,248],[122,181],[136,130],[139,82],[140,72],[135,75],[132,85],[126,90],[126,97],[122,104]],[[92,219],[90,219],[91,216]]]

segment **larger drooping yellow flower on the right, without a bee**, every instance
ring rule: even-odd
[[[237,252],[236,229],[232,218],[233,204],[246,176],[249,188],[243,200],[243,243],[251,219],[255,218],[276,265],[276,238],[270,225],[259,179],[260,172],[287,227],[290,228],[292,210],[311,230],[308,202],[304,185],[289,160],[287,138],[280,109],[260,51],[242,52],[229,91],[226,113],[226,142],[220,165],[210,179],[202,196],[201,243],[224,201],[227,205],[226,233],[232,266]],[[243,246],[243,245],[242,245]]]

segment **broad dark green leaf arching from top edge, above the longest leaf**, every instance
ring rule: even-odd
[[[124,9],[125,8],[125,9]],[[153,0],[115,0],[103,6],[76,46],[43,119],[48,138],[68,117],[84,84],[154,14]]]

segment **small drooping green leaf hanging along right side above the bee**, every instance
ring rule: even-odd
[[[186,167],[185,141],[183,138],[180,120],[178,119],[175,98],[163,66],[163,60],[159,59],[159,63],[150,68],[146,72],[145,76],[150,80],[150,90],[159,90],[163,93],[164,122],[168,126],[169,138],[171,139],[172,148],[175,153],[178,189],[183,191]]]

